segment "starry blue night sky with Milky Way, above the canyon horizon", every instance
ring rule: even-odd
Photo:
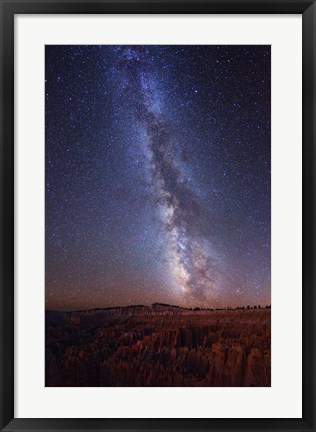
[[[270,46],[46,46],[46,308],[270,304]]]

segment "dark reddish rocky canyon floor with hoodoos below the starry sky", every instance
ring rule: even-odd
[[[46,311],[46,386],[271,385],[271,309]]]

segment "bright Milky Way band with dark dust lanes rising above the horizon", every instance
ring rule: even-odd
[[[163,118],[151,74],[146,71],[147,55],[144,59],[137,48],[119,49],[118,54],[124,58],[122,73],[127,71],[131,78],[127,86],[136,95],[139,126],[146,134],[154,196],[165,226],[166,266],[185,299],[214,298],[214,260],[199,232],[201,206],[178,168],[172,133]]]

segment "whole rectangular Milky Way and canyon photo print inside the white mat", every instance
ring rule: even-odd
[[[269,45],[45,47],[45,385],[271,385]]]

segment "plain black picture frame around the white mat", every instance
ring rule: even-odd
[[[1,29],[1,320],[2,431],[315,431],[315,114],[316,4],[306,0],[0,0]],[[303,21],[303,416],[302,419],[14,418],[14,15],[15,14],[302,14]],[[268,29],[267,29],[268,31]],[[286,148],[284,150],[286,157]],[[298,287],[300,289],[300,287]],[[289,355],[292,347],[289,347]],[[291,377],[289,377],[291,379]],[[229,407],[228,407],[229,409]]]

